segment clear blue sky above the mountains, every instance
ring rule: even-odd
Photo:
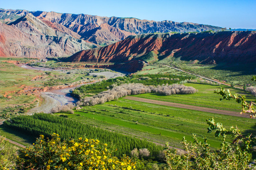
[[[0,0],[0,8],[256,29],[256,0]]]

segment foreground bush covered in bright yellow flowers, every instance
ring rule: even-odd
[[[112,156],[113,147],[99,140],[80,137],[61,141],[53,134],[45,140],[18,151],[18,170],[136,170],[136,162],[128,156]]]

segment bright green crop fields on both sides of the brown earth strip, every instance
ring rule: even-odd
[[[238,103],[219,101],[219,95],[213,90],[219,86],[187,84],[199,90],[196,94],[177,94],[171,96],[156,95],[153,93],[136,95],[155,100],[179,102],[191,105],[218,108],[221,110],[239,110]],[[234,90],[238,92],[237,90]],[[242,91],[240,91],[242,92]],[[190,102],[190,103],[187,103]],[[232,109],[235,108],[235,109]],[[59,113],[60,114],[60,113]],[[207,134],[206,119],[214,117],[226,128],[238,126],[245,133],[256,134],[255,119],[238,118],[220,114],[207,113],[188,109],[174,108],[158,104],[136,102],[127,99],[106,102],[104,104],[83,107],[75,114],[66,114],[68,118],[94,126],[110,129],[123,134],[145,138],[165,144],[168,141],[172,146],[181,147],[183,136],[192,140],[192,134],[200,137],[207,136],[211,146],[218,147],[219,139],[213,134]]]

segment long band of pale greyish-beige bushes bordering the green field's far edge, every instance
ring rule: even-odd
[[[109,102],[120,97],[124,97],[127,95],[135,95],[142,93],[160,93],[164,95],[171,94],[192,94],[196,93],[196,89],[193,87],[188,87],[185,85],[157,85],[157,86],[147,86],[143,84],[123,84],[119,86],[113,87],[111,90],[107,90],[101,92],[97,95],[86,97],[79,102],[77,105],[81,106],[94,106],[95,104],[103,104],[105,102]]]

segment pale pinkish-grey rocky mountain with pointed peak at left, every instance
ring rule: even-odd
[[[7,24],[0,23],[0,56],[65,57],[94,44],[62,25],[40,20],[32,14]]]

